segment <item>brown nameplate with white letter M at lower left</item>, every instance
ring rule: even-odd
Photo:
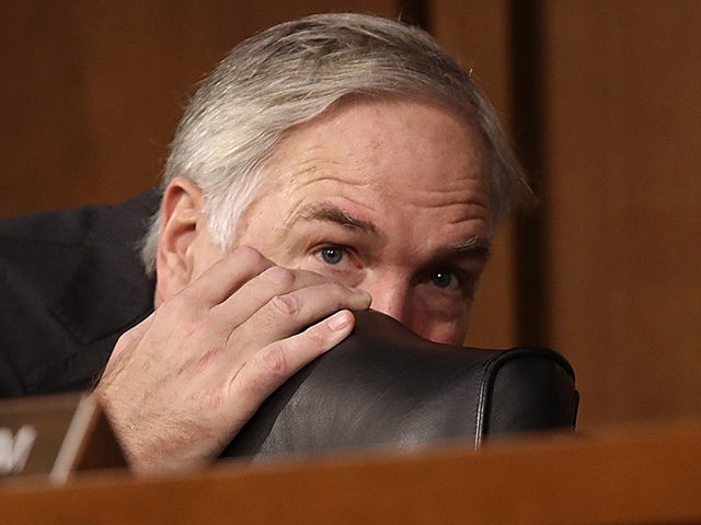
[[[72,472],[125,466],[117,440],[93,396],[0,401],[0,480],[46,476],[62,483]]]

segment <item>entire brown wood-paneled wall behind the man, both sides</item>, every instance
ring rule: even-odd
[[[701,415],[694,0],[0,0],[0,215],[153,186],[231,46],[338,10],[401,12],[473,68],[539,190],[502,233],[468,342],[564,353],[583,428]]]

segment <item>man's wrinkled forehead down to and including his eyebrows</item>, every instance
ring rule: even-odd
[[[346,104],[279,144],[240,231],[284,250],[299,241],[296,233],[318,237],[341,225],[374,236],[397,260],[489,240],[489,177],[478,137],[436,104]]]

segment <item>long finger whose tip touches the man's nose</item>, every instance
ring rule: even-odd
[[[319,319],[341,310],[366,310],[370,303],[367,292],[327,282],[276,295],[232,329],[227,347],[248,359],[256,349],[290,337]]]

